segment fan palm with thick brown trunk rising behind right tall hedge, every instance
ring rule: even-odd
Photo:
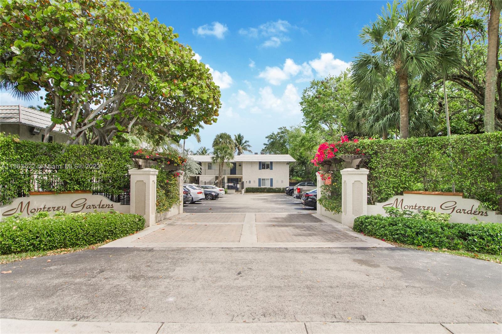
[[[370,45],[371,54],[359,54],[352,65],[355,88],[371,99],[388,77],[399,88],[399,130],[401,138],[410,135],[409,81],[436,66],[437,54],[451,45],[452,27],[431,18],[449,13],[451,2],[408,1],[388,4],[378,20],[362,29],[360,38]]]

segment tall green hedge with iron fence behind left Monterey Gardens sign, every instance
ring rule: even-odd
[[[34,184],[44,191],[92,190],[94,187],[105,194],[119,195],[124,187],[129,187],[127,174],[133,166],[131,149],[43,143],[0,133],[0,203],[10,203],[21,193],[34,191]],[[29,168],[36,169],[39,165],[73,168],[58,168],[44,175],[28,173]],[[92,184],[93,178],[97,184]]]

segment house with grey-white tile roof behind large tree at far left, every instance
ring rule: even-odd
[[[45,129],[52,124],[51,115],[22,105],[0,106],[0,132],[17,134],[20,139],[43,141]],[[51,131],[49,142],[66,142],[68,135],[62,125]]]

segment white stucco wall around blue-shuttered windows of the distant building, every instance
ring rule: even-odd
[[[287,162],[273,161],[272,170],[259,170],[258,163],[258,161],[242,162],[244,188],[258,187],[258,179],[274,179],[274,188],[289,186],[289,164]]]

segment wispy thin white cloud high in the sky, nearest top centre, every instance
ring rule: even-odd
[[[263,48],[277,48],[282,42],[289,41],[288,33],[292,29],[299,29],[292,26],[288,21],[277,20],[264,23],[258,28],[240,29],[239,34],[250,38],[263,38],[265,41],[261,44]]]

